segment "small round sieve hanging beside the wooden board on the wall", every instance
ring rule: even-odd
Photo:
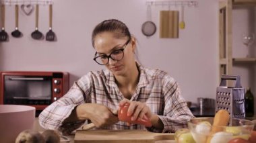
[[[145,36],[152,36],[156,33],[156,24],[151,21],[151,6],[147,7],[147,21],[144,22],[141,26],[141,32]]]

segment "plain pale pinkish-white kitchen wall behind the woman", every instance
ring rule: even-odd
[[[146,21],[146,0],[55,0],[53,31],[57,42],[36,41],[34,13],[20,11],[22,38],[13,38],[14,6],[6,7],[9,42],[0,43],[0,70],[63,70],[71,74],[70,83],[90,70],[98,70],[92,58],[91,34],[104,19],[120,19],[137,38],[139,59],[144,66],[166,70],[181,85],[188,101],[197,97],[215,98],[218,83],[218,1],[198,0],[198,7],[185,7],[185,30],[178,39],[150,38],[141,33]],[[152,7],[152,21],[159,28],[159,11]],[[177,9],[170,7],[170,9]],[[48,7],[40,7],[39,30],[48,31]]]

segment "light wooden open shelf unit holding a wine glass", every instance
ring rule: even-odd
[[[232,46],[232,10],[237,7],[256,7],[256,0],[222,0],[219,2],[219,73],[221,75],[234,75],[236,64],[256,65],[256,57],[233,57]],[[255,38],[254,38],[255,40]],[[255,47],[252,47],[255,48]],[[254,54],[255,56],[255,54]],[[248,70],[253,70],[252,68]],[[220,77],[219,76],[219,77]],[[252,83],[252,82],[249,82]],[[231,85],[231,82],[228,82]],[[255,81],[251,86],[255,85]],[[250,85],[249,85],[250,86]]]

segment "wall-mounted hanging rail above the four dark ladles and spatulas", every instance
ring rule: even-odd
[[[53,5],[53,0],[1,0],[3,5]]]

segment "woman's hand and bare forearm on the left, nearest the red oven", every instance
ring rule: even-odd
[[[110,126],[119,122],[117,111],[96,103],[84,103],[76,108],[79,120],[90,120],[96,128]]]

